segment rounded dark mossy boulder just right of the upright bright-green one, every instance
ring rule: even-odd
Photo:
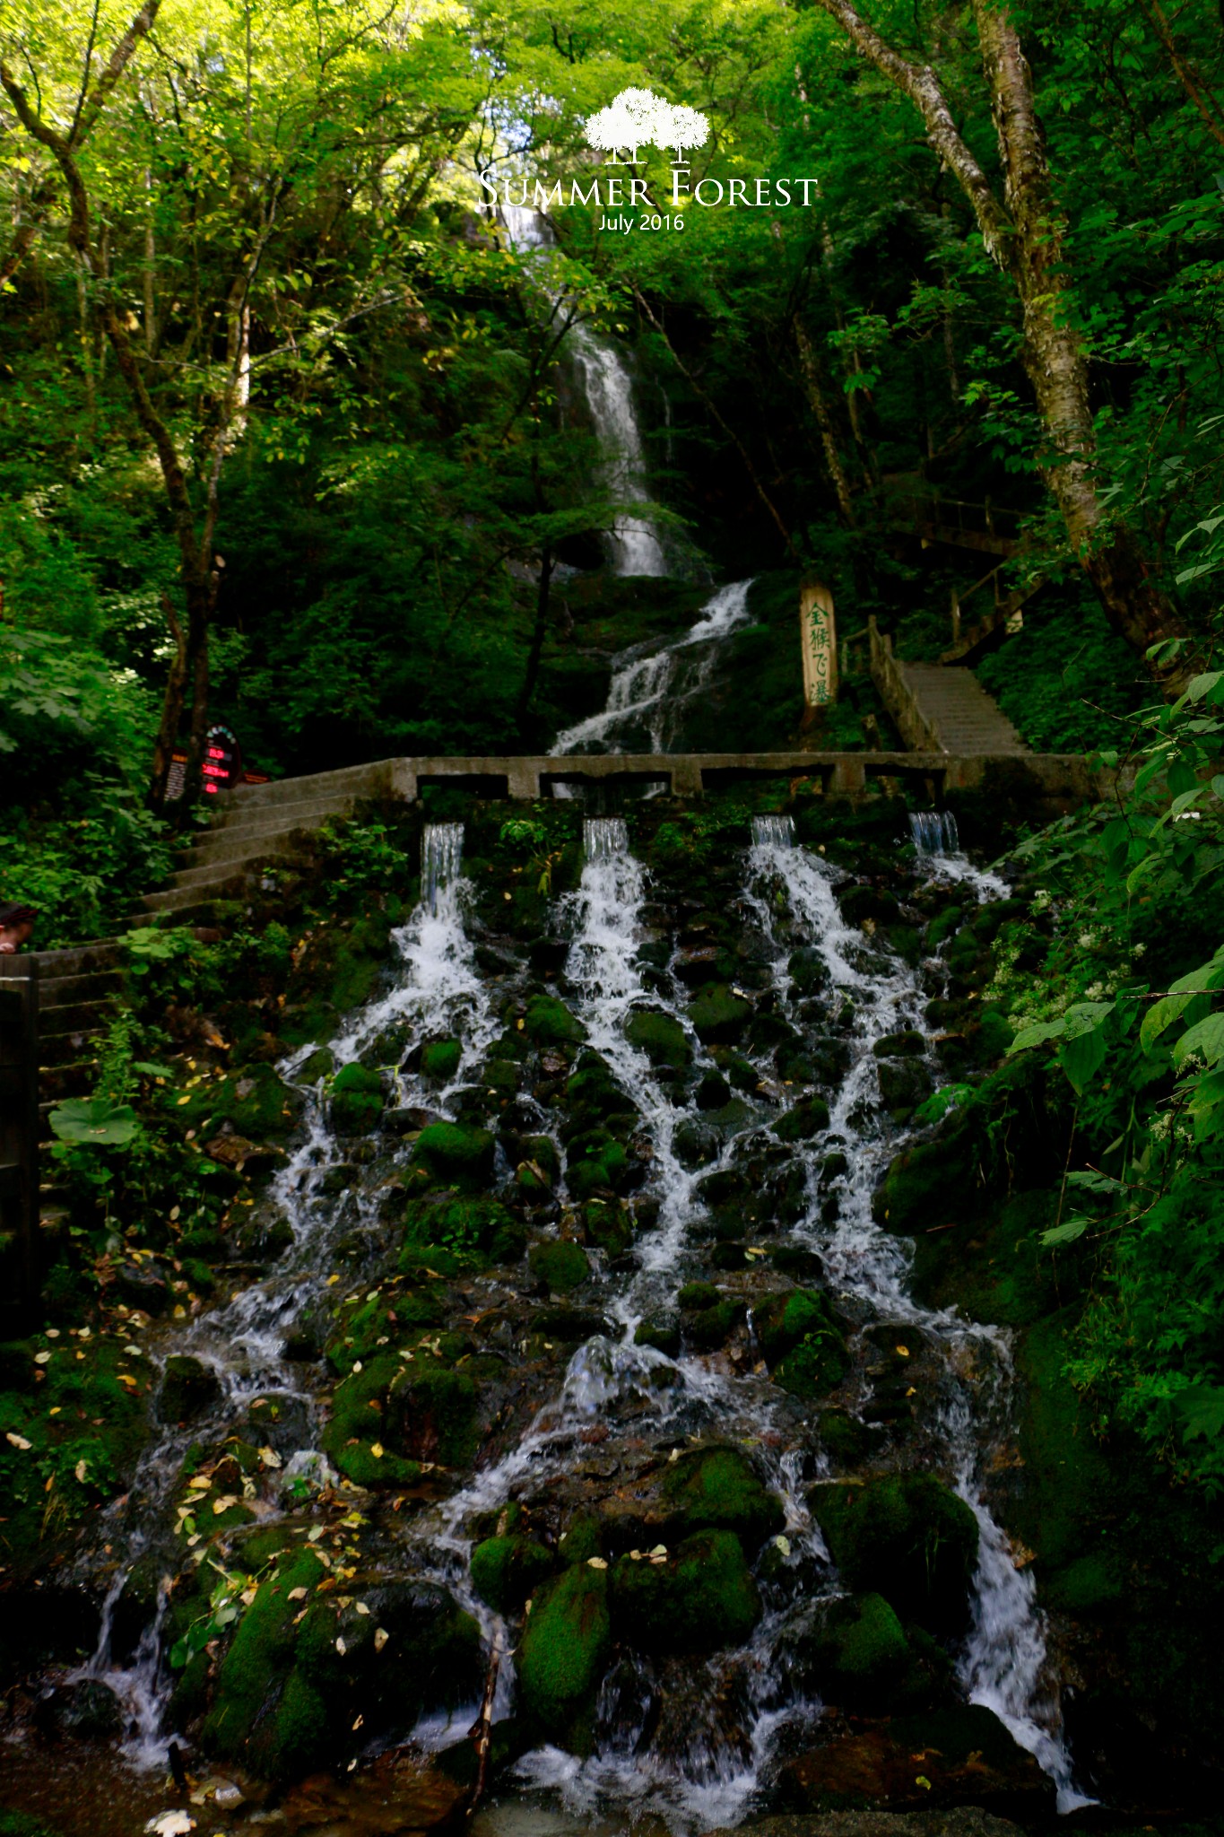
[[[609,1600],[618,1639],[666,1653],[738,1646],[762,1613],[730,1530],[699,1530],[659,1560],[622,1556],[611,1572]]]

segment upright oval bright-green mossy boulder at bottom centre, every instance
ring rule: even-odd
[[[523,1705],[571,1752],[591,1752],[609,1651],[607,1571],[574,1563],[536,1589],[517,1655]]]

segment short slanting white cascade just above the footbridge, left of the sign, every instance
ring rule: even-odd
[[[718,647],[749,623],[752,580],[732,580],[701,608],[672,645],[635,645],[613,659],[607,704],[598,715],[565,727],[554,753],[666,753],[675,742],[684,709],[705,689]]]

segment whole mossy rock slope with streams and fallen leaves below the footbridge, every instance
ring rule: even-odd
[[[116,1749],[116,1830],[1077,1802],[1009,1335],[912,1293],[989,1179],[1018,902],[818,803],[473,805],[325,1043],[303,939],[297,1020],[184,1080],[248,1183],[125,1266],[143,1448],[39,1574],[101,1633],[11,1699],[22,1804],[75,1828],[48,1780]]]

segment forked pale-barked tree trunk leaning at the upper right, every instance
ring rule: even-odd
[[[1075,327],[1033,77],[1006,0],[973,0],[1004,169],[1002,204],[956,129],[936,72],[894,51],[850,0],[817,4],[921,112],[934,152],[973,206],[987,254],[1017,290],[1022,360],[1044,432],[1039,465],[1105,615],[1138,652],[1160,639],[1185,637],[1182,619],[1147,571],[1134,531],[1108,518],[1101,502],[1088,356]],[[1184,671],[1180,665],[1156,674],[1178,687]]]

